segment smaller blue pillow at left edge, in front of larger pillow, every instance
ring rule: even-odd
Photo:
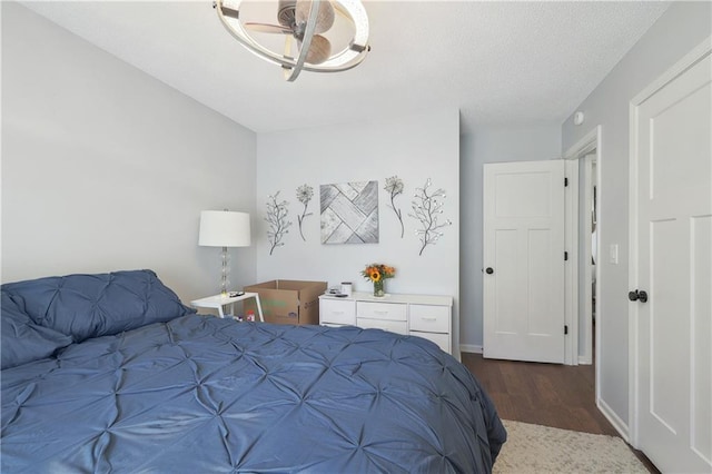
[[[49,357],[57,349],[71,344],[71,337],[32,323],[4,292],[0,304],[2,368]]]

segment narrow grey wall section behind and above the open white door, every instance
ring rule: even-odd
[[[561,156],[558,124],[477,127],[461,137],[461,342],[463,349],[482,348],[482,177],[483,165],[537,161]]]

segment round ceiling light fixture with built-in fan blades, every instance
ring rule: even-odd
[[[368,16],[358,0],[279,0],[278,24],[244,22],[240,9],[246,3],[249,2],[217,0],[214,7],[228,32],[250,52],[281,66],[288,81],[297,79],[303,70],[338,72],[352,69],[370,51]],[[332,53],[334,41],[327,36],[343,34],[345,30],[350,30],[349,39],[343,49]],[[285,34],[284,53],[256,41],[248,31]]]

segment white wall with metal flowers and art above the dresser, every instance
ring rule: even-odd
[[[257,137],[257,278],[325,280],[330,286],[343,280],[355,290],[373,287],[359,274],[367,264],[385,263],[396,267],[386,292],[452,295],[457,299],[459,266],[459,115],[457,110],[399,117],[372,122],[329,126],[297,131],[259,134]],[[386,178],[397,175],[405,192],[396,199],[405,221],[405,236],[394,211],[387,207],[389,195],[383,189]],[[432,179],[433,188],[447,192],[442,219],[453,225],[443,230],[436,245],[418,256],[414,231],[417,221],[407,217],[416,187]],[[319,186],[349,181],[377,180],[379,188],[379,243],[323,245],[319,226]],[[315,195],[305,221],[306,241],[297,228],[301,204],[296,188],[307,184]],[[280,191],[289,201],[293,226],[286,245],[269,255],[267,223],[263,220],[269,195]],[[457,308],[455,308],[455,314]],[[457,340],[457,339],[456,339]]]

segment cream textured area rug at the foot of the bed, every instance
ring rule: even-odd
[[[503,421],[494,473],[647,473],[620,437]]]

